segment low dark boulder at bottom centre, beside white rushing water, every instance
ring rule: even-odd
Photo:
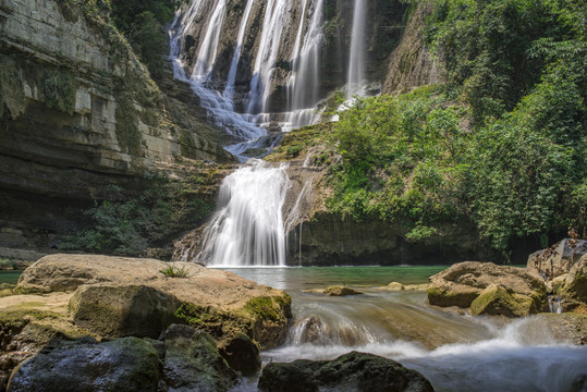
[[[372,354],[352,352],[333,360],[298,359],[262,369],[260,391],[433,391],[419,372]]]

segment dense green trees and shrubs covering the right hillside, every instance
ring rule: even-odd
[[[505,258],[519,237],[585,235],[586,3],[433,2],[426,40],[447,84],[340,113],[330,207],[401,217],[408,241],[467,223]]]

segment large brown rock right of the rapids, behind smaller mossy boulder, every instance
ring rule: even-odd
[[[488,290],[481,299],[476,303],[475,309],[479,313],[487,307],[490,314],[499,314],[497,309],[503,304],[504,298],[523,303],[523,314],[519,309],[504,310],[504,315],[511,313],[516,316],[535,314],[548,308],[546,292],[547,287],[540,277],[524,269],[510,266],[496,266],[492,262],[465,261],[437,273],[430,278],[428,286],[428,301],[430,305],[469,307],[490,285],[502,287]],[[504,293],[507,293],[505,295]],[[502,295],[503,294],[503,295]],[[501,299],[490,299],[498,295]],[[484,306],[481,306],[484,304]],[[491,310],[490,310],[491,309]]]

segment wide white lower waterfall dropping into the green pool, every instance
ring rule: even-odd
[[[222,181],[199,261],[207,266],[285,265],[282,208],[290,182],[285,170],[285,164],[273,168],[252,159]]]

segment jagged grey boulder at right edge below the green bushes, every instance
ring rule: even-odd
[[[564,238],[548,249],[528,256],[526,268],[550,279],[568,273],[573,266],[587,254],[587,241]]]

